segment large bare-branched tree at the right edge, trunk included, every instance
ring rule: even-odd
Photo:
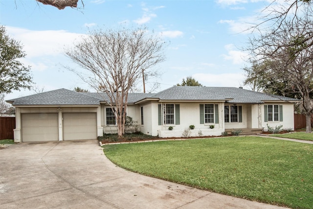
[[[310,5],[312,1],[303,1]],[[278,20],[267,30],[258,36],[253,36],[249,41],[251,51],[251,63],[260,64],[265,61],[270,63],[264,66],[266,71],[252,70],[248,73],[251,77],[260,75],[267,76],[273,81],[270,85],[274,88],[284,86],[283,81],[288,81],[285,87],[298,92],[302,98],[302,106],[306,115],[306,132],[311,133],[311,114],[313,113],[313,16],[312,8],[299,11],[299,2],[293,1],[297,14],[288,16],[286,11],[279,16]],[[288,7],[291,9],[291,7]],[[252,66],[253,66],[252,65]],[[262,68],[261,68],[262,69]],[[260,69],[259,69],[260,70]],[[255,73],[256,72],[256,73]],[[255,74],[253,74],[255,73]],[[262,77],[262,76],[260,76]],[[256,79],[260,79],[256,78]],[[249,78],[249,77],[247,77]],[[247,81],[247,80],[246,80]],[[276,85],[276,86],[275,86]],[[311,97],[310,97],[311,95]]]

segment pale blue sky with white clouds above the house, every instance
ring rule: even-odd
[[[168,42],[166,60],[157,69],[157,91],[193,76],[204,86],[243,86],[248,65],[247,23],[256,23],[265,0],[83,0],[79,9],[58,10],[35,0],[1,0],[0,24],[21,41],[35,86],[44,91],[74,87],[90,89],[65,69],[73,65],[64,48],[89,29],[147,26]],[[139,87],[140,88],[140,87]],[[245,87],[248,89],[248,87]],[[141,88],[140,88],[141,89]],[[147,84],[149,89],[149,84]],[[15,91],[6,99],[33,94]]]

